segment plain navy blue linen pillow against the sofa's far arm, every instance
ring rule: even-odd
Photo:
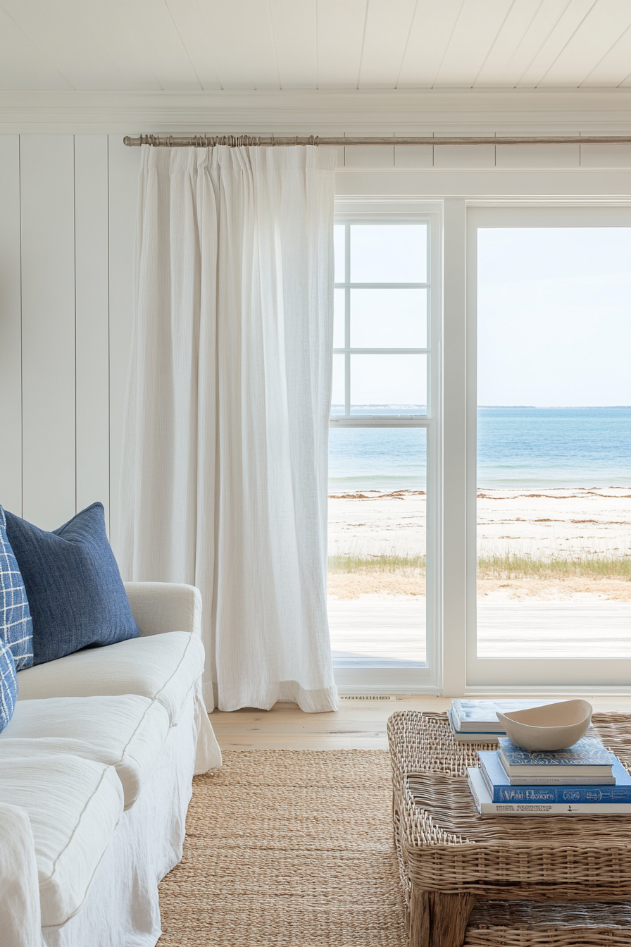
[[[33,664],[140,634],[93,503],[53,532],[7,510],[7,535],[33,618]]]

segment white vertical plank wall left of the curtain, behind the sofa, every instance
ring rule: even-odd
[[[96,500],[113,520],[140,158],[121,137],[0,135],[0,504],[44,529]]]

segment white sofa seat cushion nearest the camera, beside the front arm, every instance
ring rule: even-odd
[[[114,767],[63,755],[13,757],[0,767],[0,801],[26,811],[42,925],[62,924],[79,910],[123,812]]]

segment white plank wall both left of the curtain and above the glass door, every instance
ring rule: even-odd
[[[400,199],[615,198],[631,167],[621,145],[343,151],[340,194]],[[119,133],[0,135],[0,504],[52,529],[100,500],[114,551],[139,160]]]

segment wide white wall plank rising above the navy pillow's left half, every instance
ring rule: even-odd
[[[72,135],[20,142],[23,514],[44,529],[75,513],[75,194]]]

